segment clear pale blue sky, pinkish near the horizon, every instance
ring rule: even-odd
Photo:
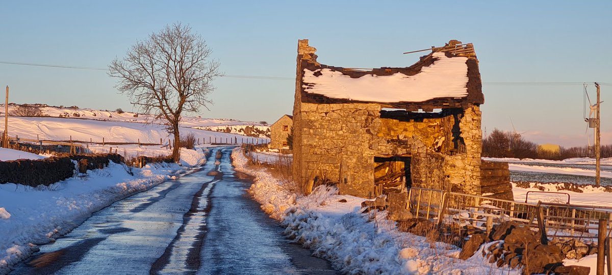
[[[427,53],[402,53],[457,39],[479,59],[485,134],[513,124],[538,144],[592,144],[583,82],[594,102],[597,81],[602,143],[612,144],[609,0],[1,1],[0,10],[0,62],[106,68],[166,24],[188,24],[226,75],[198,115],[269,123],[293,112],[298,39],[323,64],[359,68],[407,67]],[[0,63],[14,103],[136,111],[115,85],[103,70]]]

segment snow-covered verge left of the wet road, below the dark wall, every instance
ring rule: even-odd
[[[181,163],[203,164],[203,150],[181,150]],[[0,274],[79,226],[91,213],[187,171],[178,164],[142,169],[110,163],[50,186],[0,185]]]

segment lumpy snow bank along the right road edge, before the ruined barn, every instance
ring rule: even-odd
[[[365,199],[321,188],[305,197],[289,193],[264,169],[247,167],[240,148],[232,153],[236,171],[255,176],[248,189],[262,210],[281,221],[285,233],[329,260],[345,274],[518,274],[496,268],[482,253],[457,259],[460,250],[446,243],[397,230],[386,212],[359,214]]]

